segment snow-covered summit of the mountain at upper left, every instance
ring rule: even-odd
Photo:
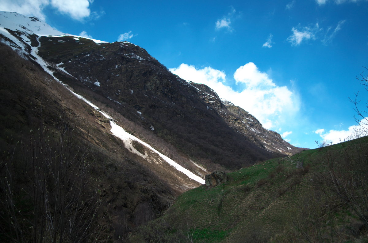
[[[106,41],[95,40],[88,37],[70,35],[60,32],[52,28],[46,22],[37,17],[26,17],[16,12],[0,11],[0,34],[9,38],[9,33],[6,29],[20,31],[24,34],[36,34],[38,36],[73,36],[95,41],[95,43],[107,43]],[[12,38],[10,38],[12,39]]]

